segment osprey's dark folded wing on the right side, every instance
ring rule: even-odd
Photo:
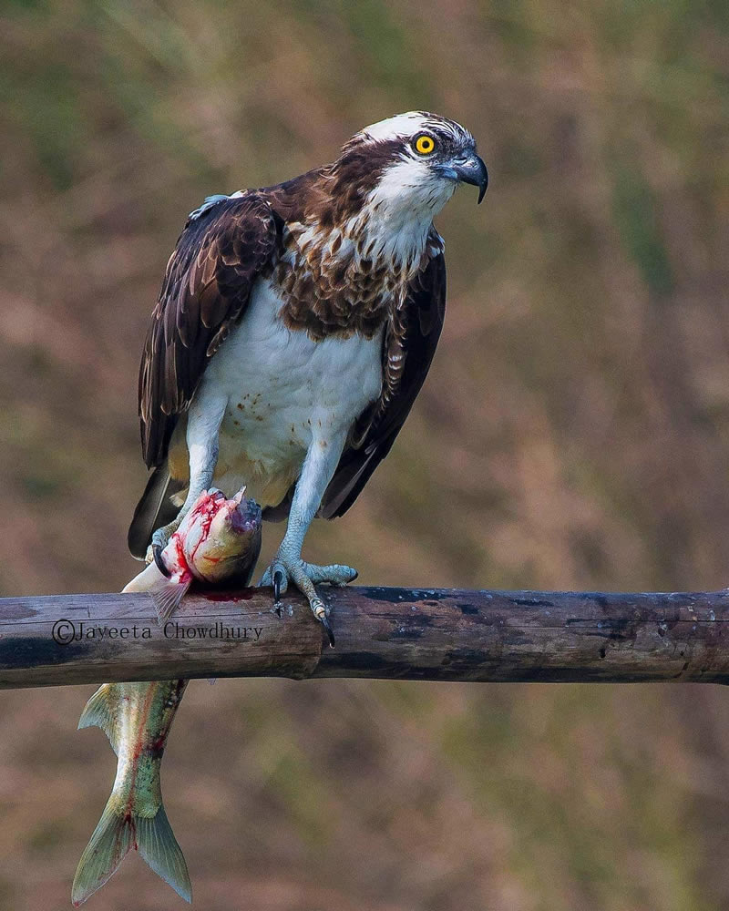
[[[320,516],[343,516],[390,451],[425,382],[445,315],[446,261],[441,252],[418,273],[404,305],[388,323],[382,394],[354,427],[326,488]]]

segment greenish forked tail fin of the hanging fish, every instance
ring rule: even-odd
[[[139,849],[151,869],[180,897],[192,901],[188,868],[164,806],[160,804],[157,814],[149,818],[119,812],[110,798],[78,862],[71,889],[74,907],[82,905],[108,881],[132,848]]]

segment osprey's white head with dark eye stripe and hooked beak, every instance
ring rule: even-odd
[[[410,111],[361,129],[344,146],[341,161],[355,157],[370,175],[368,201],[386,209],[433,215],[458,184],[478,188],[480,202],[488,171],[476,140],[454,120]]]

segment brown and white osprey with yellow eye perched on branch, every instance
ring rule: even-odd
[[[352,506],[426,378],[446,303],[433,218],[460,182],[483,199],[474,138],[412,111],[362,129],[331,164],[190,213],[139,371],[154,471],[132,554],[166,571],[161,548],[200,493],[245,485],[264,518],[288,517],[262,584],[278,600],[292,582],[334,644],[314,585],[357,574],[303,562],[303,538],[314,516]]]

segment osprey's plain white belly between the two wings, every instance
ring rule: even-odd
[[[259,279],[241,323],[211,359],[190,406],[188,439],[223,411],[213,484],[232,496],[243,484],[275,506],[301,473],[313,443],[342,445],[380,394],[382,333],[325,339],[287,329],[271,282]]]

